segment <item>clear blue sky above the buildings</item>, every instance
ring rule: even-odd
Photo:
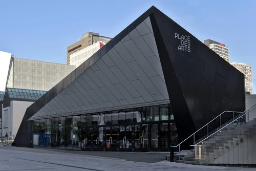
[[[256,84],[256,1],[1,1],[0,51],[15,57],[66,63],[67,46],[83,33],[114,37],[151,6],[199,40],[229,48],[230,62],[253,67]]]

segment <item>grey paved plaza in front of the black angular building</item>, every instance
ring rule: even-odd
[[[165,161],[167,153],[80,152],[0,147],[0,170],[255,170]]]

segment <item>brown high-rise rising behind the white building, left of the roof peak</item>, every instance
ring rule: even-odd
[[[93,33],[93,32],[84,33],[82,35],[81,40],[78,40],[74,44],[68,46],[68,48],[67,48],[67,65],[72,65],[71,64],[71,62],[72,62],[71,61],[71,54],[73,54],[77,51],[80,51],[84,48],[87,48],[87,47],[89,47],[93,44],[96,44],[97,42],[101,42],[103,45],[105,45],[111,39],[112,38],[110,38],[110,37],[101,36],[101,35],[99,35],[99,33]],[[83,61],[85,61],[85,60],[83,60]],[[73,62],[74,62],[74,60],[73,60]]]

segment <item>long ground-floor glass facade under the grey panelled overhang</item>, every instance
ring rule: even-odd
[[[147,152],[176,142],[170,104],[34,120],[34,147]]]

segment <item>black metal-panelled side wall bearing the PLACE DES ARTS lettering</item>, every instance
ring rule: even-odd
[[[159,10],[151,21],[180,141],[224,110],[245,110],[238,70]]]

